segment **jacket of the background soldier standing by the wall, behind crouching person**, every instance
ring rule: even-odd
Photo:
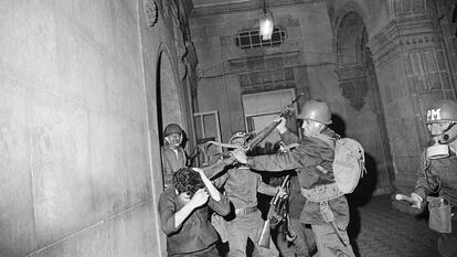
[[[163,184],[164,188],[168,188],[172,184],[173,173],[185,167],[188,157],[182,147],[178,147],[177,154],[168,143],[161,147],[160,151],[162,157]]]

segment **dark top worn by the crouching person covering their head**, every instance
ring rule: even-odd
[[[211,207],[222,216],[230,212],[228,200],[221,194],[221,201],[216,202],[210,197],[208,204],[195,208],[179,227],[174,227],[174,214],[183,205],[172,185],[160,195],[160,225],[167,235],[169,255],[194,253],[214,244],[219,235],[211,225],[209,208]]]

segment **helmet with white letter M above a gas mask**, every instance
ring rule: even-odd
[[[427,109],[425,124],[436,124],[442,121],[457,122],[457,103],[443,99],[432,104]]]

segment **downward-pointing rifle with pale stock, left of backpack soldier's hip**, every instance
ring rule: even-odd
[[[286,188],[289,179],[290,175],[287,175],[284,179],[283,184],[280,185],[280,191],[283,191]],[[285,202],[287,201],[287,197],[279,196],[279,192],[276,193],[276,195],[272,199],[269,203],[267,219],[264,222],[264,226],[262,227],[262,232],[257,240],[257,244],[265,248],[269,248],[269,242],[272,238],[270,226],[276,226],[283,219],[283,217],[278,213],[281,212],[281,208]]]

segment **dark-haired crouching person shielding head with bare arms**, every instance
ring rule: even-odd
[[[160,195],[159,215],[167,234],[168,256],[219,256],[217,232],[210,222],[210,208],[225,216],[227,199],[220,194],[202,170],[181,168],[172,186]]]

